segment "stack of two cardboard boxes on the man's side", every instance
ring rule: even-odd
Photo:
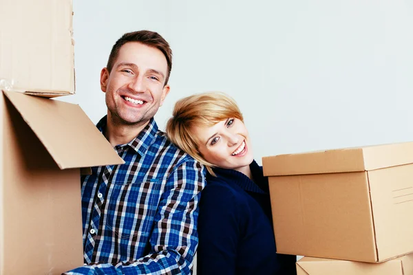
[[[72,0],[0,6],[0,274],[61,274],[83,265],[80,168],[123,160],[50,99],[74,94]]]

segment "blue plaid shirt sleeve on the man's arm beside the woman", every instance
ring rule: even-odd
[[[191,274],[198,246],[198,202],[204,186],[203,166],[194,160],[180,164],[167,179],[149,240],[151,251],[147,256],[116,265],[85,265],[65,274]]]

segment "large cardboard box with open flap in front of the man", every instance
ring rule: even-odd
[[[83,265],[80,167],[121,164],[74,104],[0,95],[0,274]]]

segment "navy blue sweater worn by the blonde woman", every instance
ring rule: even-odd
[[[276,254],[268,179],[254,161],[254,181],[236,170],[207,176],[198,217],[198,274],[296,274],[293,255]]]

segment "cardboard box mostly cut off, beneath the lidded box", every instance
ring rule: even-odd
[[[297,275],[412,275],[413,254],[384,263],[360,263],[304,257],[297,261]]]

